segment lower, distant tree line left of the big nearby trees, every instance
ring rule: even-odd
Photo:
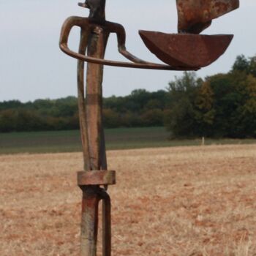
[[[132,91],[126,97],[103,99],[105,128],[163,126],[167,91]],[[37,99],[0,102],[0,132],[29,132],[79,129],[78,100]]]

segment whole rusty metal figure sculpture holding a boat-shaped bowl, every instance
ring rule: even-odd
[[[78,110],[83,145],[83,171],[78,172],[78,186],[83,191],[80,255],[97,255],[98,208],[102,200],[102,255],[111,255],[111,217],[108,185],[116,184],[116,172],[108,170],[102,127],[103,65],[140,69],[197,70],[219,58],[233,35],[199,35],[211,20],[238,8],[238,0],[176,0],[178,34],[140,31],[140,37],[152,53],[166,64],[143,61],[127,51],[126,34],[121,24],[105,19],[105,0],[86,0],[89,18],[70,17],[62,26],[60,48],[78,59]],[[68,47],[69,33],[80,27],[78,53]],[[115,33],[118,51],[132,62],[105,60],[110,33]],[[84,61],[88,62],[86,91]],[[86,95],[85,95],[86,94]],[[104,187],[103,187],[104,186]]]

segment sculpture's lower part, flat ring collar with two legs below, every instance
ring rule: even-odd
[[[111,202],[99,186],[116,184],[115,171],[78,172],[78,186],[83,191],[80,255],[97,254],[98,211],[102,200],[102,255],[111,255]]]

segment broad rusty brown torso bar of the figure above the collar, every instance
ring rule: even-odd
[[[105,45],[108,33],[99,26],[95,26],[89,34],[87,55],[102,59],[105,54]],[[103,66],[87,64],[86,71],[86,119],[89,138],[89,158],[91,170],[102,168],[102,78]]]

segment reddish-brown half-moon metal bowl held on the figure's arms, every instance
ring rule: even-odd
[[[206,67],[219,59],[233,34],[165,34],[139,31],[146,47],[161,61],[172,67]]]

